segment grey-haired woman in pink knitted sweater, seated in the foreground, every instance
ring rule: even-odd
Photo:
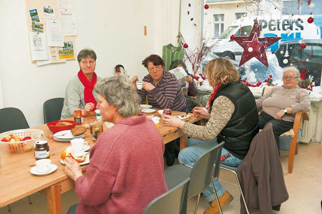
[[[95,91],[102,120],[114,126],[91,149],[86,176],[75,160],[64,160],[80,200],[68,213],[77,208],[77,214],[142,214],[167,191],[160,132],[150,118],[139,114],[140,97],[126,76],[105,78]]]

